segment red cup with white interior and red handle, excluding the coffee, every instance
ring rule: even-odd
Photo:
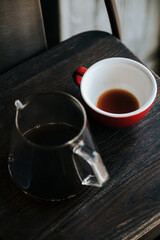
[[[157,84],[151,71],[141,63],[127,58],[107,58],[88,69],[78,68],[73,74],[90,113],[100,123],[113,128],[129,127],[139,122],[150,110]],[[128,113],[111,113],[97,107],[99,97],[108,90],[122,89],[132,93],[139,108]]]

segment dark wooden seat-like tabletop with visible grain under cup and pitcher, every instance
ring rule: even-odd
[[[0,76],[0,240],[154,239],[160,234],[160,95],[147,116],[126,129],[110,129],[89,115],[110,180],[103,188],[60,203],[37,202],[11,181],[7,155],[14,101],[62,90],[80,101],[72,73],[108,57],[138,60],[102,32],[75,36]],[[160,79],[156,76],[158,87]]]

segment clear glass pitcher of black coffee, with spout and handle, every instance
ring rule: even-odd
[[[15,106],[8,168],[22,191],[58,201],[86,186],[103,186],[109,175],[77,99],[52,92],[16,100]]]

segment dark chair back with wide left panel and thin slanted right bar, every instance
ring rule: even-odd
[[[120,38],[115,0],[104,1],[112,32]],[[0,73],[58,42],[58,0],[1,0]]]

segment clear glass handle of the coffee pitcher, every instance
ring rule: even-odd
[[[83,166],[76,160],[76,156],[81,157],[91,167],[91,174],[84,174]],[[102,187],[109,179],[109,174],[99,153],[96,151],[92,152],[83,140],[73,148],[73,162],[82,185]]]

